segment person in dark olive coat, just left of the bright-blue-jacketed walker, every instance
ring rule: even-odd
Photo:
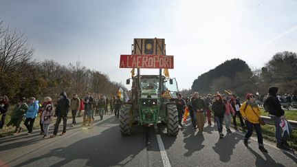
[[[25,98],[21,98],[17,105],[15,105],[12,113],[10,114],[10,122],[7,126],[15,126],[14,133],[12,135],[17,135],[22,131],[21,122],[23,121],[23,115],[28,110],[28,105],[25,103]]]

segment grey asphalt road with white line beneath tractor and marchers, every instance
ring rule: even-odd
[[[166,135],[164,126],[159,126],[157,140],[153,127],[142,126],[122,137],[114,115],[104,116],[102,121],[96,117],[92,126],[78,124],[54,138],[43,139],[39,130],[30,136],[0,138],[0,166],[297,166],[295,155],[273,143],[265,141],[269,151],[265,154],[254,138],[246,148],[239,132],[219,140],[213,125],[197,135],[186,124],[177,137]]]

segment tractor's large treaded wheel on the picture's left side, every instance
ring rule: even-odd
[[[132,113],[131,104],[123,104],[120,109],[120,133],[122,135],[131,135],[132,131]]]

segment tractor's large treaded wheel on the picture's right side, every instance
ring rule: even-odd
[[[176,136],[179,133],[178,113],[176,104],[167,104],[167,134]]]

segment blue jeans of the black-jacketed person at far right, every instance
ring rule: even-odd
[[[270,118],[272,120],[274,120],[274,126],[276,127],[276,142],[278,142],[278,143],[285,142],[287,140],[288,134],[287,134],[287,132],[285,132],[283,135],[283,129],[280,126],[281,118],[274,116],[274,115],[270,115]],[[289,122],[287,122],[287,123],[288,123],[289,133],[291,134],[293,131],[293,128],[292,128],[291,124],[289,124]]]

